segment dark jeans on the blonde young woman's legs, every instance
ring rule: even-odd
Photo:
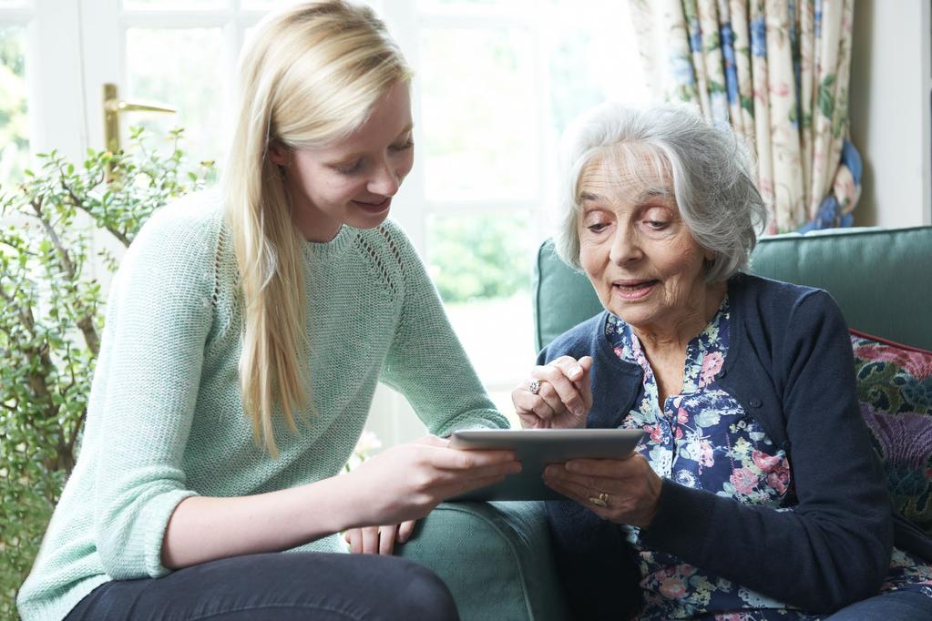
[[[108,582],[65,621],[459,621],[445,584],[410,560],[371,554],[254,554],[161,578]]]

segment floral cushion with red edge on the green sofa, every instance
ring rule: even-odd
[[[932,533],[932,352],[851,331],[857,398],[894,508]]]

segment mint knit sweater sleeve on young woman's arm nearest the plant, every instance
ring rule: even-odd
[[[217,232],[183,207],[157,212],[120,264],[91,393],[100,455],[89,502],[103,569],[118,580],[168,573],[168,520],[195,494],[182,456],[212,321]]]

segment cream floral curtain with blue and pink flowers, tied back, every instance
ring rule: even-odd
[[[854,0],[629,4],[651,90],[698,105],[754,145],[771,232],[852,223],[861,176],[846,140]]]

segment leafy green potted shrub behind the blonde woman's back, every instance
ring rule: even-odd
[[[152,212],[214,177],[179,148],[89,151],[80,168],[59,153],[2,189],[0,216],[0,618],[32,566],[75,466],[103,330],[100,277],[116,270]],[[110,181],[108,181],[108,179]]]

